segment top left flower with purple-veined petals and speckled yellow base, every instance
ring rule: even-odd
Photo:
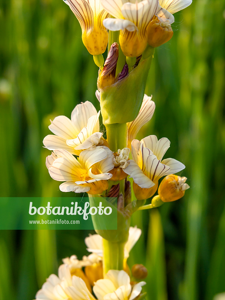
[[[100,0],[64,0],[73,11],[82,29],[82,41],[88,52],[100,55],[105,52],[108,44],[108,31],[103,26],[103,20],[109,14]]]

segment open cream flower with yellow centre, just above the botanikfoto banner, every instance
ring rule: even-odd
[[[65,181],[59,186],[62,192],[100,194],[108,187],[108,173],[113,169],[113,152],[98,146],[84,150],[79,161],[68,151],[56,149],[46,158],[46,166],[52,179]]]

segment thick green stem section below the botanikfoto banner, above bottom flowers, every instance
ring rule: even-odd
[[[122,270],[125,243],[114,243],[103,239],[103,272]]]

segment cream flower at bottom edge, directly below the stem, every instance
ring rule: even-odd
[[[93,291],[99,300],[133,300],[145,284],[141,281],[131,286],[130,277],[125,271],[110,270],[104,279],[95,282]]]

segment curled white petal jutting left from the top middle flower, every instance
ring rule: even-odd
[[[138,30],[137,26],[133,22],[125,19],[107,18],[103,20],[103,25],[111,31],[124,29],[127,29],[128,31]]]

